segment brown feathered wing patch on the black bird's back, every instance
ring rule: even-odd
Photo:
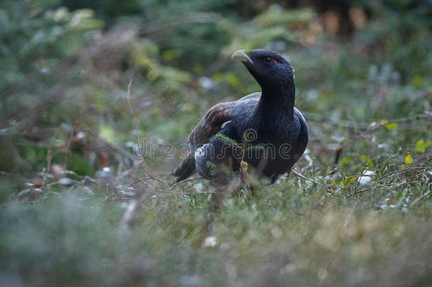
[[[191,135],[189,135],[188,140],[192,150],[195,150],[195,148],[200,145],[208,143],[210,137],[220,131],[222,123],[228,120],[231,120],[231,116],[229,115],[227,103],[218,103],[212,106],[212,108],[205,113],[198,125],[192,130]]]

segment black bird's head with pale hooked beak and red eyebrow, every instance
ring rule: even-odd
[[[273,89],[291,84],[294,69],[277,52],[270,50],[238,50],[231,56],[240,60],[262,89]]]

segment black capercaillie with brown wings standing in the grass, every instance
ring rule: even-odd
[[[289,171],[305,152],[307,124],[294,107],[294,69],[290,63],[269,50],[239,50],[232,58],[246,66],[261,86],[261,93],[218,103],[205,113],[188,137],[191,153],[172,173],[178,176],[177,181],[188,178],[195,169],[206,179],[215,179],[208,162],[239,170],[241,151],[217,134],[237,142],[246,135],[248,144],[261,145],[244,152],[244,161],[272,182]]]

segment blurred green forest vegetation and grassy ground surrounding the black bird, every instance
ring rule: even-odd
[[[0,2],[0,286],[427,286],[432,2],[252,2]],[[171,182],[205,111],[259,91],[251,48],[295,67],[314,183],[220,212],[207,181],[153,186],[120,232],[135,137]]]

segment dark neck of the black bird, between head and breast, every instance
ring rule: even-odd
[[[256,112],[261,114],[263,120],[294,118],[295,85],[292,79],[280,86],[261,86],[261,89]]]

